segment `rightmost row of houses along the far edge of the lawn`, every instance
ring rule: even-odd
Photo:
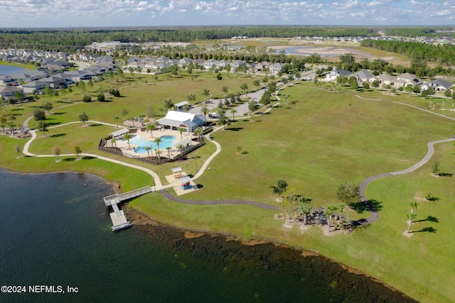
[[[404,73],[401,75],[393,76],[389,75],[386,72],[375,76],[369,70],[360,70],[359,72],[349,72],[347,70],[332,70],[328,74],[326,74],[326,79],[329,81],[335,81],[338,77],[355,77],[359,84],[363,84],[363,82],[374,82],[378,81],[380,84],[392,84],[395,87],[407,87],[407,85],[411,84],[414,86],[419,86],[421,90],[428,89],[429,87],[433,87],[436,92],[445,92],[446,89],[451,89],[454,86],[453,83],[447,82],[442,79],[435,79],[430,82],[423,82],[421,79],[418,79],[415,75],[410,73]]]

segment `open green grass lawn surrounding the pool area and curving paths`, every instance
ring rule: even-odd
[[[129,75],[127,78],[130,79]],[[114,123],[113,116],[119,116],[123,108],[128,109],[129,116],[138,116],[146,114],[149,105],[156,110],[161,108],[164,99],[181,101],[187,94],[198,94],[202,100],[201,92],[205,87],[218,92],[223,85],[239,89],[240,83],[247,82],[251,89],[254,77],[230,75],[230,78],[218,81],[215,74],[207,74],[191,81],[191,77],[186,76],[171,79],[160,76],[156,85],[152,84],[154,79],[151,77],[146,78],[147,84],[144,79],[138,80],[138,84],[134,79],[126,82],[131,85],[112,83],[121,87],[124,97],[105,103],[82,104],[77,89],[68,95],[68,101],[64,101],[68,104],[58,102],[62,101],[62,96],[53,97],[55,109],[49,116],[50,122],[58,126],[77,121],[77,116],[85,111],[90,120]],[[101,84],[110,85],[109,82]],[[410,167],[427,153],[427,142],[449,138],[454,133],[454,121],[390,101],[409,103],[412,98],[408,95],[390,97],[381,92],[360,90],[354,93],[350,89],[326,92],[308,82],[294,84],[280,93],[291,95],[291,102],[272,109],[269,114],[257,116],[255,122],[236,121],[226,130],[213,133],[213,139],[223,150],[197,180],[203,187],[184,198],[251,199],[273,204],[275,197],[269,185],[283,179],[300,194],[313,198],[314,206],[326,206],[336,202],[338,184],[359,183],[370,175]],[[359,99],[355,94],[365,99]],[[16,119],[19,123],[30,116],[31,106],[45,101],[47,97],[25,104],[23,108],[8,106],[4,114],[20,114]],[[411,101],[419,103],[423,99]],[[348,106],[349,102],[353,105]],[[159,116],[159,112],[156,114]],[[100,153],[97,150],[100,137],[113,129],[110,126],[82,127],[82,123],[50,128],[47,136],[38,136],[40,138],[33,142],[31,152],[52,153],[53,146],[59,146],[63,153],[71,153],[73,146],[80,144],[84,153],[107,155],[151,168],[164,182],[164,175],[169,175],[172,167],[181,166],[188,174],[195,174],[196,160],[192,157],[200,156],[200,167],[215,150],[214,145],[208,143],[189,155],[191,159],[155,167]],[[73,156],[59,163],[55,158],[16,159],[14,146],[23,147],[26,139],[0,136],[0,141],[0,163],[14,170],[90,172],[110,181],[116,180],[123,190],[153,182],[144,172],[97,159],[75,160]],[[237,145],[244,153],[237,154]],[[129,206],[158,221],[183,228],[230,233],[238,238],[267,239],[313,250],[362,270],[419,301],[450,302],[455,297],[452,287],[455,254],[451,249],[455,244],[452,224],[454,179],[432,177],[430,170],[434,161],[441,163],[443,172],[454,173],[453,145],[438,145],[434,158],[410,175],[387,177],[370,184],[367,196],[378,200],[382,207],[380,220],[353,234],[324,236],[319,228],[301,231],[294,226],[283,229],[283,221],[274,219],[274,211],[252,206],[177,204],[166,201],[159,194],[147,194],[130,202]],[[439,197],[439,201],[425,202],[427,192]],[[406,237],[402,235],[407,228],[405,214],[413,199],[421,201],[417,214],[418,220],[424,221],[414,224],[412,230],[418,232]],[[437,220],[429,220],[428,216]]]

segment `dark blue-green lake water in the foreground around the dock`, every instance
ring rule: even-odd
[[[113,233],[102,202],[112,187],[99,177],[0,169],[0,180],[0,284],[27,287],[0,302],[412,302],[290,248],[186,239],[166,226]]]

